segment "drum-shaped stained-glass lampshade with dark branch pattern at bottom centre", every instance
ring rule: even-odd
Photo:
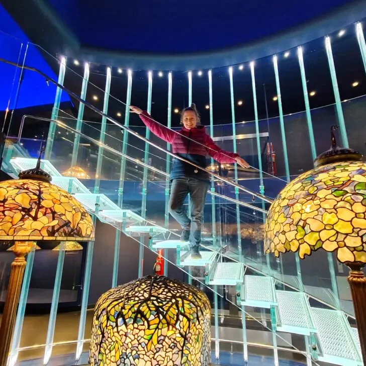
[[[147,276],[109,290],[93,318],[89,365],[209,365],[211,310],[196,287]]]

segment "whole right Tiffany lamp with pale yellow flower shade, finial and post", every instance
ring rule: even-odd
[[[332,147],[314,161],[315,168],[292,180],[269,208],[264,250],[279,256],[298,252],[336,252],[350,268],[350,285],[361,352],[366,362],[366,163],[352,149]]]

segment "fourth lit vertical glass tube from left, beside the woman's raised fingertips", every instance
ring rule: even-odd
[[[128,125],[130,123],[131,90],[132,90],[132,71],[128,70],[126,110],[125,110],[125,126],[126,127],[128,127]],[[128,143],[128,133],[125,132],[123,134],[123,143],[122,143],[122,153],[123,154],[126,154],[126,152],[127,152],[127,143]],[[124,183],[125,183],[125,170],[126,170],[126,158],[121,157],[120,182],[119,182],[119,187],[118,187],[118,206],[121,209],[122,209],[122,205],[123,205],[123,188],[124,188]],[[125,224],[125,222],[122,223],[122,225],[124,225],[124,224]],[[120,240],[121,240],[121,231],[117,229],[116,236],[115,236],[115,256],[113,258],[112,287],[117,286]]]

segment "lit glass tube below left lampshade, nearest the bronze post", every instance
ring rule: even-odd
[[[26,311],[29,284],[30,284],[31,276],[32,276],[35,249],[36,249],[36,247],[33,246],[33,249],[27,255],[27,264],[26,264],[26,269],[24,272],[24,279],[23,279],[22,289],[21,289],[20,298],[19,298],[19,306],[18,306],[18,311],[17,311],[17,318],[15,320],[14,334],[13,334],[12,345],[10,348],[8,366],[15,366],[15,364],[17,363],[17,359],[18,359],[19,345],[20,345],[20,339],[22,336],[22,329],[23,329],[24,313]]]

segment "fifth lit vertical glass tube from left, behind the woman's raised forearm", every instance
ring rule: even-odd
[[[151,94],[152,94],[152,71],[148,72],[148,87],[147,87],[147,113],[151,114]],[[150,139],[150,130],[146,127],[145,137]],[[149,159],[149,144],[145,142],[145,154],[144,163],[147,164]],[[142,201],[141,201],[141,216],[143,219],[146,218],[146,194],[147,194],[147,167],[144,167],[143,178],[142,178]],[[140,236],[140,247],[139,247],[139,267],[138,277],[142,277],[143,274],[143,260],[144,260],[144,241],[145,237]]]

